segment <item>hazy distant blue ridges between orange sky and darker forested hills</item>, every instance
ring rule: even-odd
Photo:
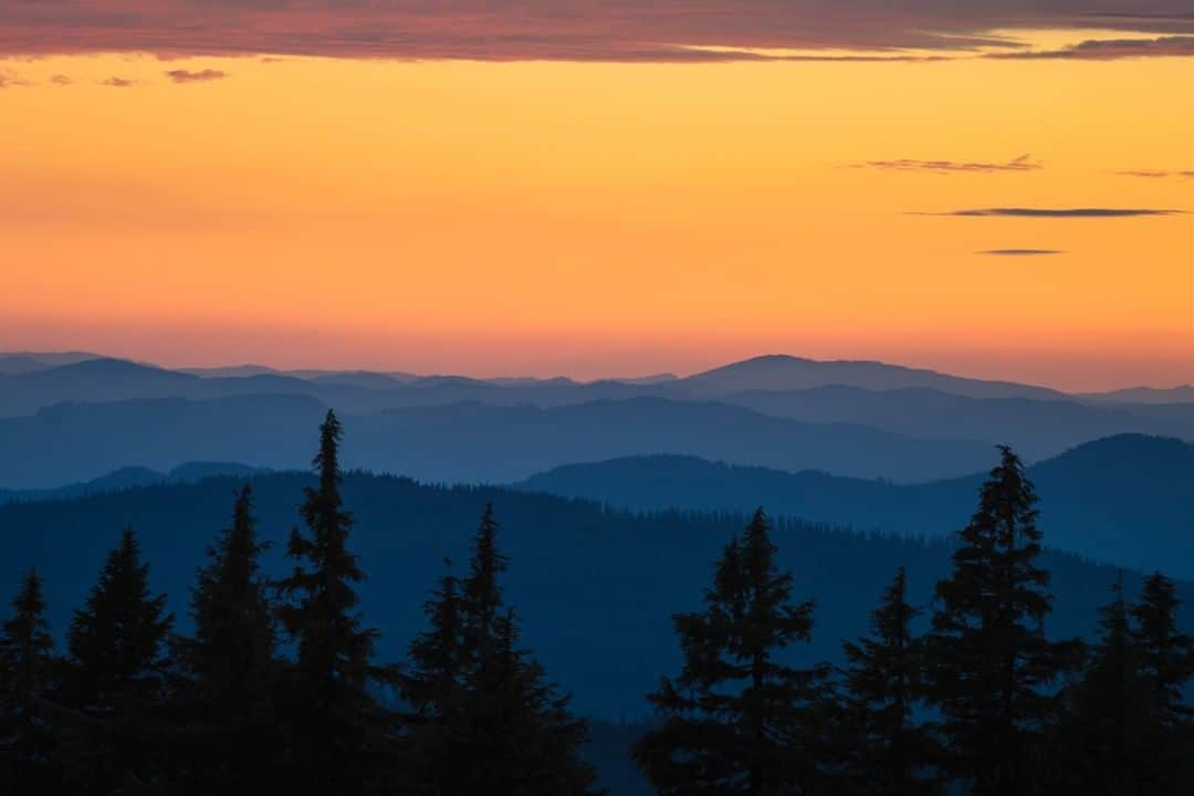
[[[685,377],[577,382],[88,357],[0,356],[0,445],[23,453],[0,465],[0,485],[50,488],[197,457],[302,467],[290,439],[328,407],[362,432],[355,465],[449,482],[678,453],[913,483],[974,473],[997,443],[1040,461],[1121,433],[1194,440],[1194,402],[1180,388],[1134,401],[870,362],[768,356]]]

